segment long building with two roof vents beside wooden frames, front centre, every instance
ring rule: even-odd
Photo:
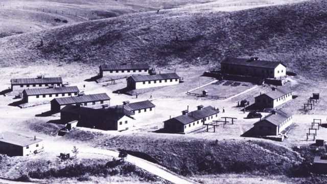
[[[164,129],[167,132],[186,133],[203,126],[203,124],[211,123],[219,119],[218,109],[212,106],[197,106],[197,110],[189,112],[183,110],[182,115],[169,119],[164,122]]]

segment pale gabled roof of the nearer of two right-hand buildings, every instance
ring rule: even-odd
[[[284,121],[286,121],[288,118],[290,118],[293,114],[286,110],[286,109],[279,109],[279,110],[273,110],[271,114],[261,119],[259,122],[256,122],[254,124],[260,124],[263,121],[268,121],[276,126],[282,124]]]

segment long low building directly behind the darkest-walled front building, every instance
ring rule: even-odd
[[[81,104],[82,106],[109,103],[110,97],[105,94],[78,95],[76,97],[55,98],[51,101],[51,111],[60,112],[66,105]]]

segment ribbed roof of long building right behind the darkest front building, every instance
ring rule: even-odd
[[[92,94],[92,95],[83,95],[77,97],[65,97],[65,98],[55,98],[52,101],[56,101],[59,105],[68,105],[76,103],[85,103],[85,102],[97,102],[103,100],[110,100],[107,94]]]

